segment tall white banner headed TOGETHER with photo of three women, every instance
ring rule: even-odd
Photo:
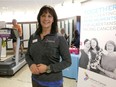
[[[116,2],[90,1],[82,8],[77,87],[116,87]]]

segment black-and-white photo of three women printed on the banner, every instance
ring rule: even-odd
[[[79,67],[116,80],[116,43],[107,40],[104,47],[99,43],[97,38],[84,40]]]

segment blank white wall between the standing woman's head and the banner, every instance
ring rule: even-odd
[[[59,4],[55,6],[55,9],[59,19],[81,15],[81,3],[78,2],[67,2],[63,6]]]

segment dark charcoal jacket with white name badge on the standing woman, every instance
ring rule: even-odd
[[[31,64],[50,65],[51,73],[33,75],[40,81],[57,81],[62,79],[62,70],[71,65],[71,56],[66,39],[59,34],[48,34],[41,39],[36,33],[28,42],[26,61]]]

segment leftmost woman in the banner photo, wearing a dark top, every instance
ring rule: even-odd
[[[90,69],[90,60],[91,60],[90,40],[85,39],[84,48],[81,49],[80,51],[79,66],[84,69]]]

